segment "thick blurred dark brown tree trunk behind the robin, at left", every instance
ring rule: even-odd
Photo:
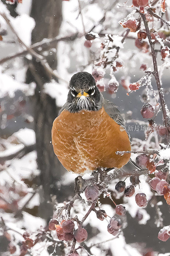
[[[33,0],[31,17],[36,26],[32,33],[32,43],[41,41],[43,38],[51,38],[58,35],[62,21],[62,0]],[[51,68],[56,68],[56,51],[51,51],[47,57]],[[51,54],[52,52],[52,54]],[[42,185],[42,202],[40,205],[40,217],[50,218],[53,205],[50,195],[56,193],[55,182],[60,180],[63,166],[54,154],[51,143],[51,128],[59,108],[55,100],[43,92],[43,85],[49,78],[41,66],[41,63],[33,59],[30,64],[27,81],[35,81],[36,89],[33,97],[34,123],[36,133],[36,150],[38,168],[41,170],[38,185]]]

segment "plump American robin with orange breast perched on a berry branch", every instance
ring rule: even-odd
[[[91,74],[71,77],[67,101],[52,127],[55,155],[68,171],[83,175],[124,166],[130,154],[115,152],[131,150],[125,129],[120,111],[99,92]]]

